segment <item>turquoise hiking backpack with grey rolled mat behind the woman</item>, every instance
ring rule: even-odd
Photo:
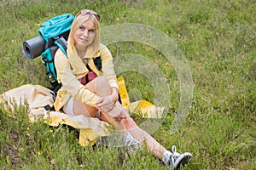
[[[49,82],[56,88],[58,86],[54,65],[55,52],[58,48],[67,56],[67,37],[73,22],[73,14],[61,14],[46,20],[38,30],[38,37],[23,42],[23,54],[28,59],[42,56],[47,68]]]

